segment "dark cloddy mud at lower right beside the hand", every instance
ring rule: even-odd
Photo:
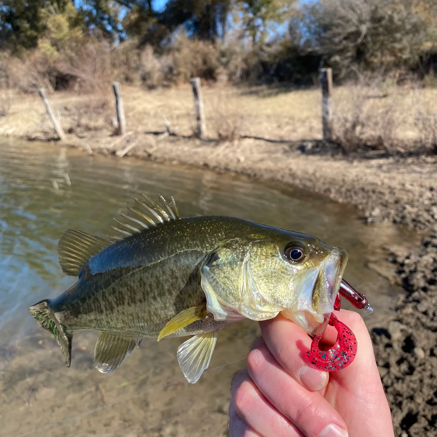
[[[375,354],[395,434],[437,435],[437,227],[418,253],[394,249],[407,294],[396,314],[373,330]]]

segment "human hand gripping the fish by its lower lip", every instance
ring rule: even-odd
[[[229,437],[393,437],[390,408],[375,362],[371,338],[359,314],[336,312],[357,338],[347,368],[318,371],[305,351],[305,331],[278,315],[260,322],[247,368],[232,381]],[[337,332],[328,326],[322,343]]]

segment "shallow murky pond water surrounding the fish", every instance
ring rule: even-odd
[[[125,202],[160,192],[181,215],[223,214],[319,236],[348,250],[345,277],[387,313],[399,290],[366,267],[387,243],[409,236],[371,227],[354,209],[291,189],[206,170],[104,157],[36,143],[0,144],[0,435],[222,435],[229,378],[244,365],[257,324],[222,331],[210,369],[195,385],[177,366],[178,339],[144,339],[109,375],[92,367],[96,333],[76,333],[72,367],[29,315],[75,279],[58,264],[56,245],[68,228],[105,236]],[[231,363],[231,364],[229,364]]]

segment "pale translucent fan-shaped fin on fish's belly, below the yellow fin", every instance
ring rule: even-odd
[[[217,341],[217,331],[199,334],[182,343],[177,349],[177,361],[185,378],[194,384],[208,368]]]

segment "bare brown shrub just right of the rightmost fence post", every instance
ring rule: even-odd
[[[397,103],[400,90],[388,94],[381,80],[361,79],[334,99],[334,139],[347,153],[365,149],[393,150],[399,142]]]

